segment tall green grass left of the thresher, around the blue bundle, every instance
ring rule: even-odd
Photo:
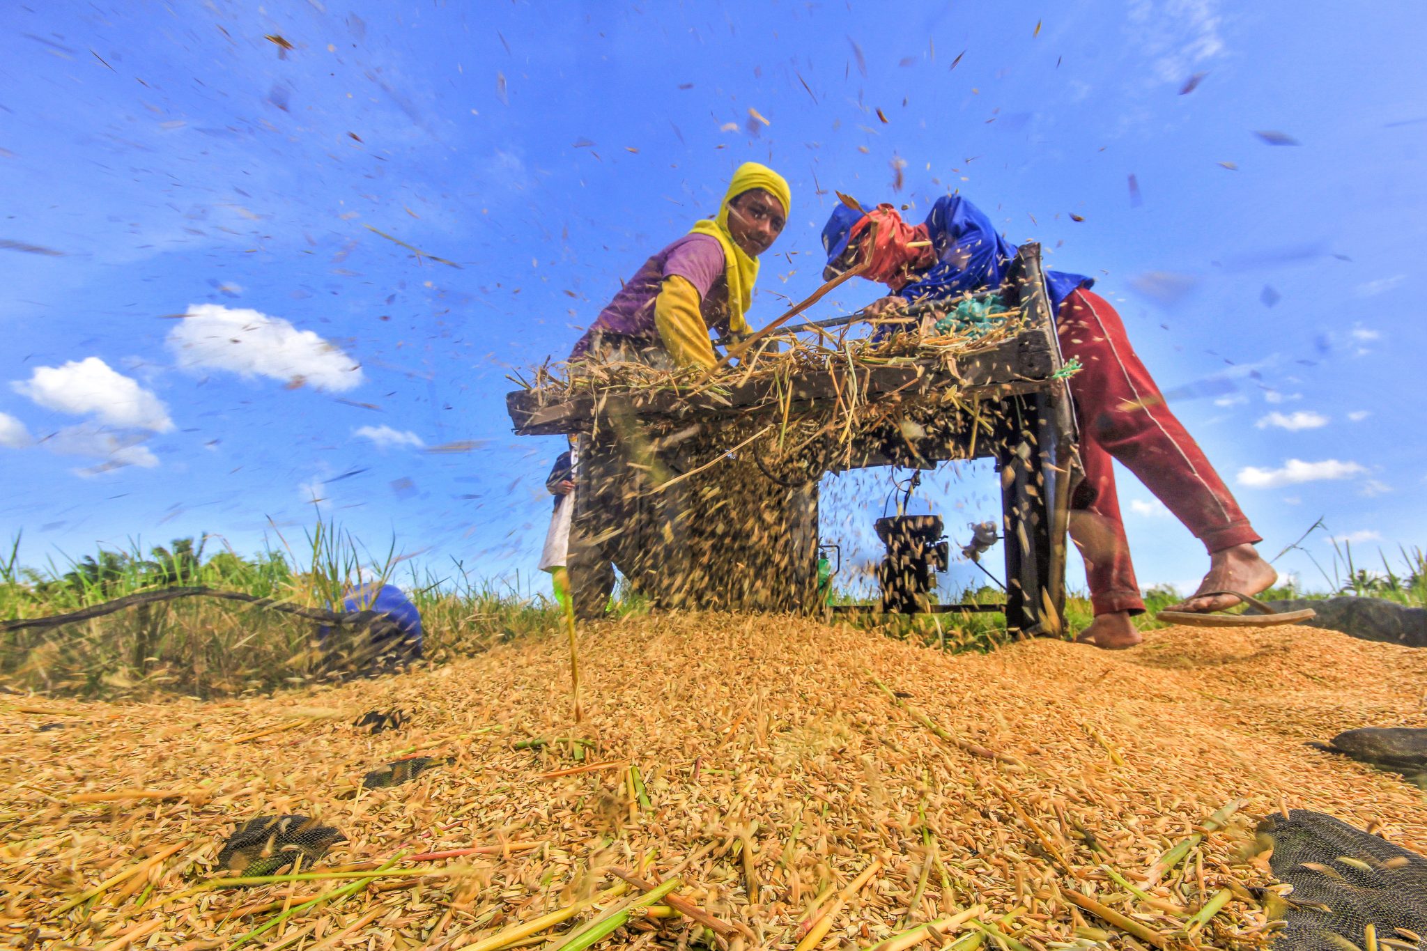
[[[178,539],[147,555],[126,552],[16,563],[19,539],[0,557],[0,619],[46,617],[173,585],[207,586],[305,607],[340,603],[347,585],[392,582],[417,605],[424,663],[479,653],[518,637],[554,634],[557,609],[519,585],[471,582],[459,562],[444,576],[417,575],[395,549],[372,556],[335,525],[318,522],[305,545],[258,555]],[[539,575],[544,582],[545,576]],[[0,633],[0,684],[10,690],[83,697],[178,693],[200,699],[267,693],[321,682],[317,624],[291,615],[210,597],[128,607],[61,627]]]

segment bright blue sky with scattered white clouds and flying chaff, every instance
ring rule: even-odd
[[[759,160],[793,208],[755,325],[818,285],[832,188],[959,188],[1099,279],[1269,555],[1319,516],[1360,553],[1427,542],[1423,6],[896,9],[6,4],[0,536],[250,552],[315,492],[374,550],[528,576],[561,445],[509,433],[505,375]],[[1142,583],[1192,582],[1122,475]],[[983,466],[930,482],[953,533],[996,512]],[[828,488],[865,546],[886,475]]]

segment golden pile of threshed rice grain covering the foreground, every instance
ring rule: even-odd
[[[1304,746],[1427,724],[1427,652],[1306,627],[1149,637],[945,656],[791,617],[626,619],[582,636],[579,726],[558,639],[223,704],[4,699],[0,934],[559,948],[644,894],[608,893],[618,867],[678,884],[606,947],[1251,948],[1271,937],[1249,891],[1271,881],[1244,848],[1256,817],[1321,810],[1427,851],[1420,791]],[[392,707],[411,721],[351,726]],[[410,754],[452,761],[344,798]],[[405,858],[200,887],[237,824],[283,813],[348,837],[318,875]]]

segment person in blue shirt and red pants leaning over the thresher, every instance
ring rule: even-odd
[[[902,221],[890,204],[862,205],[860,211],[839,204],[822,242],[828,252],[825,279],[868,261],[862,277],[892,291],[870,309],[889,317],[912,302],[999,288],[1016,257],[1016,247],[960,195],[938,198],[919,225]],[[1120,520],[1112,459],[1133,472],[1209,550],[1209,573],[1174,610],[1232,607],[1240,600],[1234,595],[1266,590],[1277,572],[1254,549],[1263,539],[1170,412],[1130,346],[1120,315],[1090,291],[1093,284],[1079,274],[1046,271],[1060,351],[1082,365],[1069,378],[1085,468],[1070,500],[1070,538],[1085,556],[1095,622],[1080,640],[1120,649],[1140,643],[1130,617],[1144,612],[1144,602]]]

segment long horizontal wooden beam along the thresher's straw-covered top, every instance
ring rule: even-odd
[[[849,391],[852,374],[856,374],[858,391],[866,394],[869,402],[890,395],[902,399],[926,398],[952,388],[966,396],[1032,392],[1049,385],[1053,364],[1055,351],[1047,335],[1043,331],[1029,331],[985,351],[968,354],[956,361],[952,371],[942,369],[933,359],[922,359],[900,365],[858,366],[853,371],[839,368],[795,379],[793,405],[806,409],[819,402],[835,401],[838,392]],[[611,411],[641,419],[781,412],[778,386],[776,381],[761,379],[735,385],[723,394],[689,395],[668,388],[581,395],[558,403],[545,403],[547,394],[539,391],[517,391],[507,395],[505,405],[518,435],[557,435],[588,431],[596,416]]]

